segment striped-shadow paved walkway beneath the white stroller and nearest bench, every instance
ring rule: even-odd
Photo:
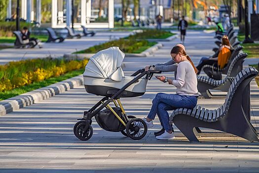
[[[212,53],[213,35],[190,31],[187,53],[197,63]],[[170,59],[170,49],[179,43],[164,42],[164,47],[149,57],[126,57],[125,74]],[[169,73],[168,76],[173,76]],[[174,93],[175,87],[156,79],[148,82],[147,92],[136,98],[123,98],[128,115],[142,118],[148,114],[157,92]],[[259,125],[259,89],[251,85],[253,125]],[[93,122],[89,141],[79,141],[73,126],[83,111],[100,96],[85,92],[83,86],[0,117],[0,173],[258,173],[259,143],[216,130],[202,129],[200,143],[189,143],[176,129],[176,139],[156,140],[158,119],[141,140],[120,132],[102,130]],[[201,99],[198,104],[214,109],[223,98]],[[259,130],[259,129],[257,129]]]

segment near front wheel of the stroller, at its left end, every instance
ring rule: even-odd
[[[76,129],[75,129],[75,133],[76,133],[76,137],[80,140],[88,140],[92,137],[93,135],[93,128],[91,125],[89,125],[88,129],[86,131],[84,131],[84,127],[85,127],[85,122],[84,123],[80,123]]]

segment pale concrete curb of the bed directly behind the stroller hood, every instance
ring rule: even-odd
[[[149,47],[147,50],[143,51],[142,53],[125,53],[125,56],[141,56],[145,57],[156,51],[157,49],[163,47],[163,44],[161,43],[156,43],[155,45]],[[64,54],[65,58],[90,58],[94,55],[95,53],[78,53],[78,54]]]

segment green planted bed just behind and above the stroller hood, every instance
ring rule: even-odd
[[[154,44],[155,43],[153,43],[153,45]],[[99,45],[94,45],[85,50],[81,50],[75,53],[97,53],[98,51],[109,48],[111,46],[118,46],[120,50],[122,50],[125,53],[138,53],[140,48],[142,48],[143,46],[148,46],[148,41],[137,41],[135,39],[119,39],[107,43],[102,43]]]

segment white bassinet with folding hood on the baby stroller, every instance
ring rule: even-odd
[[[135,77],[125,77],[121,64],[125,54],[118,47],[110,47],[93,55],[83,73],[85,90],[88,93],[112,96]],[[136,97],[146,92],[148,80],[141,78],[127,87],[121,97]]]

